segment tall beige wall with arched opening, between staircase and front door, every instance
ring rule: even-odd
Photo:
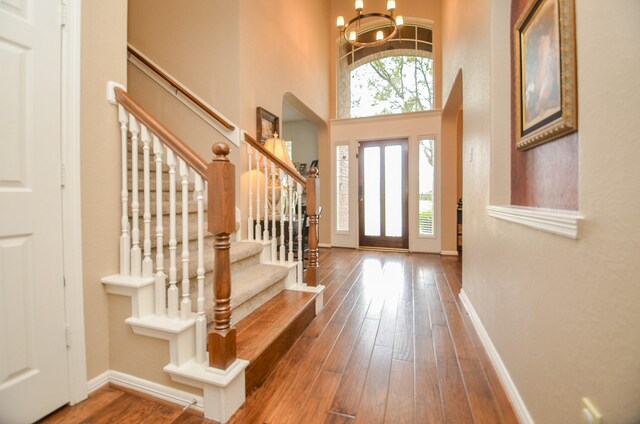
[[[282,117],[283,99],[294,97],[296,108],[308,109],[305,115],[318,127],[319,163],[328,163],[329,5],[325,0],[241,0],[239,20],[240,125],[255,134],[257,106]],[[321,205],[331,203],[325,175],[320,174]],[[330,218],[323,212],[322,221]],[[329,242],[329,228],[320,224],[321,243]]]

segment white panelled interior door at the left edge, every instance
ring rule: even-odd
[[[0,0],[0,422],[69,401],[60,1]]]

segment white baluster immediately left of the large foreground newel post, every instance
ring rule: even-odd
[[[200,174],[195,175],[196,201],[198,202],[198,318],[196,319],[196,360],[207,360],[207,317],[204,313],[204,183]],[[251,228],[251,227],[249,227]]]

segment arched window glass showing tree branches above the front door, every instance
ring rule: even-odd
[[[391,56],[351,72],[351,117],[433,109],[433,59]]]

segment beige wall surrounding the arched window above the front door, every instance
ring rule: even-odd
[[[396,15],[402,15],[405,21],[409,22],[411,18],[429,19],[433,21],[433,54],[435,59],[435,108],[442,107],[442,36],[441,36],[441,0],[402,0],[396,2]],[[387,9],[386,0],[366,0],[364,2],[364,12],[385,12]],[[336,27],[336,18],[339,15],[344,16],[345,21],[349,21],[355,16],[354,2],[345,0],[331,0],[331,14],[325,21],[330,29],[329,38],[331,40],[331,52],[329,56],[329,69],[331,75],[330,86],[330,114],[331,118],[337,117],[337,56],[338,56],[338,38],[340,33]]]

